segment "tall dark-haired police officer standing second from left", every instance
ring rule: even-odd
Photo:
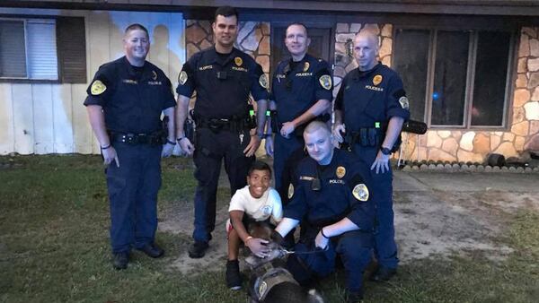
[[[251,56],[234,48],[238,13],[230,6],[216,10],[212,24],[215,46],[195,54],[183,65],[178,82],[177,141],[193,154],[195,177],[194,243],[191,258],[205,255],[216,221],[216,190],[221,160],[230,180],[231,195],[246,185],[245,176],[261,144],[268,99],[268,79]],[[185,137],[183,123],[190,96],[197,91],[194,108],[195,143]],[[249,93],[258,100],[258,128],[249,118]]]

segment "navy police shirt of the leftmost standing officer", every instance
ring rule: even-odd
[[[100,66],[87,89],[84,105],[103,108],[107,129],[119,133],[152,133],[161,129],[163,109],[176,106],[172,84],[157,66],[141,68],[125,56]]]

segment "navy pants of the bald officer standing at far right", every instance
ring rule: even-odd
[[[368,169],[376,159],[376,147],[361,147],[356,144],[353,152],[368,165]],[[371,193],[376,203],[375,224],[375,255],[378,264],[387,268],[397,268],[397,244],[395,243],[395,228],[393,223],[393,170],[376,174],[371,170]]]

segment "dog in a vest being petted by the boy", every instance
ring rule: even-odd
[[[251,268],[249,281],[249,302],[251,303],[323,303],[316,290],[305,290],[286,269],[287,251],[271,240],[270,225],[252,223],[249,234],[263,238],[268,243],[270,255],[260,258],[249,255],[245,263]]]

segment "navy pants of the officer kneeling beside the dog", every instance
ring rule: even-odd
[[[359,292],[363,287],[363,273],[372,256],[372,234],[361,230],[345,232],[331,238],[329,248],[314,254],[314,239],[300,239],[296,244],[297,254],[287,260],[287,268],[301,285],[321,279],[335,270],[335,258],[340,255],[346,273],[346,289]]]

